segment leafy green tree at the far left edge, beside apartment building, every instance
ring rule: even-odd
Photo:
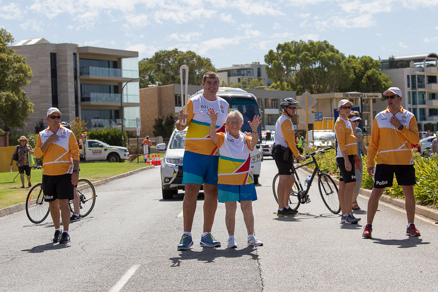
[[[6,130],[24,128],[33,113],[33,103],[21,89],[30,83],[32,69],[9,47],[13,43],[12,34],[0,28],[0,127]]]

